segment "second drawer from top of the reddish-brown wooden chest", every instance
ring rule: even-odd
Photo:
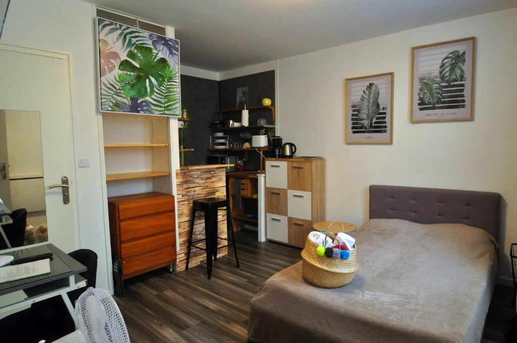
[[[174,212],[125,219],[120,222],[120,240],[126,241],[174,230],[175,219]]]

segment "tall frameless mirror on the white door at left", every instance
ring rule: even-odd
[[[0,110],[0,249],[48,241],[40,113]]]

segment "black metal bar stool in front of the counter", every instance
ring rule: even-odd
[[[205,211],[205,238],[203,239],[197,239],[195,241],[192,241],[192,237],[194,235],[194,220],[195,220],[195,212],[198,209],[202,209]],[[222,238],[217,235],[218,231],[218,223],[217,223],[217,216],[219,214],[219,210],[225,210],[226,211],[226,231],[228,231],[231,236],[232,240],[229,240],[228,236],[227,238]],[[237,257],[237,246],[235,244],[235,236],[233,233],[233,224],[232,224],[232,212],[230,210],[230,205],[228,203],[227,199],[222,198],[207,198],[207,199],[201,199],[201,200],[194,200],[192,202],[192,217],[190,218],[190,233],[189,233],[189,244],[188,244],[188,251],[187,251],[187,267],[186,270],[189,269],[189,260],[190,260],[190,250],[192,247],[195,247],[197,249],[204,250],[206,252],[206,269],[208,273],[208,279],[210,279],[212,275],[212,256],[214,259],[217,260],[217,240],[223,239],[227,241],[228,243],[224,247],[229,247],[233,245],[233,250],[235,252],[235,261],[237,262],[237,268],[239,268],[239,259]],[[205,241],[206,242],[206,248],[201,248],[199,246],[196,246],[196,243]]]

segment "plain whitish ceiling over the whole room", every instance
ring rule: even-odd
[[[87,1],[174,27],[181,64],[216,72],[517,7],[517,0]]]

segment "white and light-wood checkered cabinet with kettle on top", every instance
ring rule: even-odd
[[[325,220],[325,159],[266,159],[267,239],[303,247]]]

